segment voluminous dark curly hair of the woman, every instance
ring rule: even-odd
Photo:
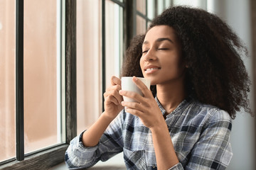
[[[154,26],[170,26],[181,40],[186,65],[186,90],[202,103],[217,106],[235,118],[236,111],[250,110],[247,93],[250,79],[240,56],[247,48],[218,16],[199,8],[176,6],[154,18]],[[139,67],[144,35],[137,35],[129,46],[122,76],[143,77]],[[151,86],[153,95],[156,88]]]

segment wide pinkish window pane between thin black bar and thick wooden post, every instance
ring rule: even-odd
[[[25,153],[62,142],[57,2],[24,1]]]

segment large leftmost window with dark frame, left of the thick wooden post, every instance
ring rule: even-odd
[[[63,162],[63,7],[61,0],[0,0],[0,169]]]

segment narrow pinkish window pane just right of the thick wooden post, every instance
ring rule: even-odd
[[[77,0],[77,120],[78,134],[102,112],[101,4]]]

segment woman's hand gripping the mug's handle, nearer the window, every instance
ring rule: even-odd
[[[104,93],[104,106],[105,115],[112,119],[117,117],[118,113],[124,108],[121,105],[123,98],[119,95],[119,90],[121,90],[121,80],[114,76],[111,77],[111,86]]]

